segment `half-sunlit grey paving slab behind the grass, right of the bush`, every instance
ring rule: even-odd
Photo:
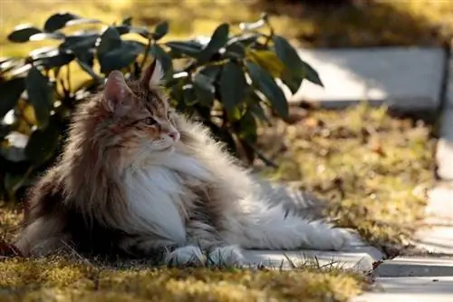
[[[386,102],[395,109],[435,111],[439,106],[445,52],[438,47],[300,49],[324,88],[305,81],[290,102],[342,107],[350,102]],[[288,93],[288,91],[286,91]]]

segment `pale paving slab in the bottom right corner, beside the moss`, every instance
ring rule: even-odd
[[[352,302],[451,302],[453,277],[377,278],[376,289]]]

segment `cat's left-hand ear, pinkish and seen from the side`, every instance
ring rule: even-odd
[[[130,107],[132,92],[124,76],[119,71],[112,71],[105,83],[103,103],[110,112],[123,113]]]

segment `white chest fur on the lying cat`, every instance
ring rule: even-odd
[[[207,180],[208,174],[199,161],[178,153],[131,170],[124,177],[130,228],[183,243],[191,202],[183,178]]]

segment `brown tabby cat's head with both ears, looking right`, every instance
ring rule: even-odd
[[[117,148],[133,156],[169,152],[179,140],[174,112],[160,91],[162,70],[154,61],[140,81],[126,83],[122,73],[111,72],[101,107],[109,119],[109,135]]]

